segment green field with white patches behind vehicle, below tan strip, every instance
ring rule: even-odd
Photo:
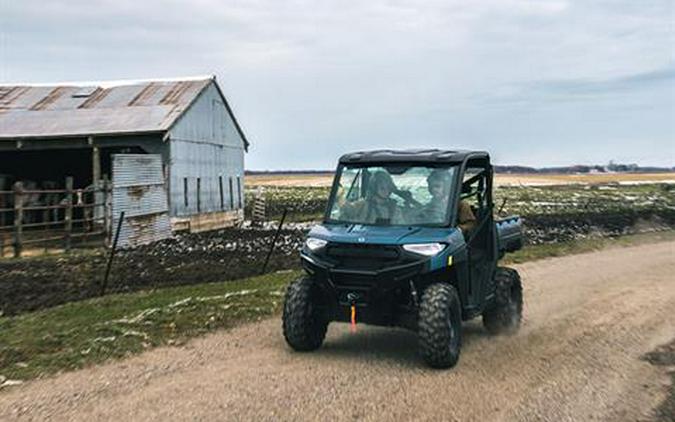
[[[538,179],[529,176],[521,179],[509,179],[511,176],[506,176],[502,177],[502,184],[495,188],[495,205],[503,216],[517,214],[528,217],[532,223],[541,220],[542,224],[549,220],[555,221],[556,224],[565,221],[575,224],[578,220],[590,219],[597,220],[598,223],[606,220],[608,224],[614,225],[612,221],[618,218],[628,219],[621,223],[626,226],[640,219],[652,217],[666,222],[673,221],[675,183],[668,181],[675,179],[675,175],[668,173],[615,176],[611,182],[599,182],[594,179],[595,176],[584,176],[586,181],[581,182],[579,179],[581,176],[554,175],[546,180],[551,183],[559,180],[560,183],[544,185],[534,183]],[[321,218],[330,187],[321,186],[320,182],[327,176],[291,175],[288,179],[283,175],[277,177],[278,181],[267,175],[264,178],[254,176],[253,182],[247,180],[248,203],[252,203],[257,192],[262,189],[268,218],[278,218],[284,209],[287,209],[291,219],[296,221]],[[661,182],[654,181],[659,179]],[[526,183],[514,184],[515,180]],[[589,183],[588,180],[593,183]],[[606,178],[603,176],[602,180]],[[557,222],[560,218],[565,221]]]

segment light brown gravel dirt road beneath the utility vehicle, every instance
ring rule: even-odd
[[[403,330],[333,324],[289,351],[278,318],[0,392],[0,420],[642,420],[668,378],[675,242],[521,265],[514,337],[465,324],[459,365],[424,367]]]

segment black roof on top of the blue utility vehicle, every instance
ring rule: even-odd
[[[441,149],[380,149],[374,151],[350,152],[340,157],[340,163],[462,163],[469,157],[490,158],[489,154],[485,151],[450,151]]]

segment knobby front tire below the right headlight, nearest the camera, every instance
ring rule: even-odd
[[[420,354],[432,368],[457,364],[462,347],[462,311],[457,290],[445,283],[427,287],[418,321]]]

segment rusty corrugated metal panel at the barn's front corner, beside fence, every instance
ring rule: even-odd
[[[113,230],[125,212],[119,247],[134,247],[171,237],[162,157],[113,155]]]

